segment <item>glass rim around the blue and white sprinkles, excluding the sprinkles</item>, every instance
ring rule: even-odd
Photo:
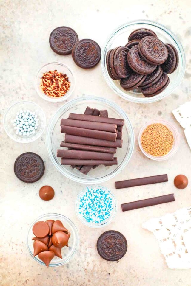
[[[101,224],[101,225],[90,225],[90,224],[88,224],[88,223],[85,223],[85,222],[81,219],[81,217],[79,216],[78,210],[77,210],[77,203],[78,203],[78,200],[79,200],[80,196],[85,192],[85,190],[86,190],[87,188],[94,187],[94,186],[99,186],[99,187],[101,187],[101,188],[103,188],[103,189],[106,189],[107,192],[109,192],[109,194],[112,196],[112,199],[114,200],[114,203],[115,203],[115,210],[114,210],[113,216],[112,216],[106,223],[103,223],[103,224]],[[98,229],[98,228],[101,228],[101,227],[104,227],[104,226],[107,226],[108,224],[110,224],[110,223],[114,220],[114,218],[115,218],[115,216],[116,216],[117,206],[118,206],[118,205],[117,205],[117,199],[115,198],[114,193],[113,193],[110,189],[108,189],[107,187],[102,186],[102,185],[98,185],[98,184],[93,184],[93,185],[89,185],[89,186],[84,187],[84,188],[78,193],[78,196],[76,197],[76,200],[75,200],[75,212],[76,212],[76,215],[77,215],[78,219],[79,219],[85,226],[89,226],[89,227],[91,227],[91,228],[93,228],[93,229]]]

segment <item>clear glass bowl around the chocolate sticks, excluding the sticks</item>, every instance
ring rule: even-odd
[[[99,110],[107,109],[109,117],[124,119],[124,127],[123,146],[122,148],[117,148],[117,153],[115,154],[118,158],[118,165],[107,167],[101,165],[84,175],[76,168],[72,169],[70,166],[61,165],[61,158],[56,157],[56,152],[57,149],[61,148],[60,143],[64,140],[64,134],[60,133],[61,119],[68,118],[70,112],[83,114],[87,106]],[[50,120],[47,130],[47,148],[53,164],[67,178],[80,183],[97,184],[113,178],[127,165],[134,148],[133,127],[125,112],[115,103],[102,97],[81,97],[64,104]]]

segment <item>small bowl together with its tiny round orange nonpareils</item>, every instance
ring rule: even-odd
[[[155,119],[145,124],[139,133],[142,153],[155,161],[171,158],[179,146],[179,133],[171,122]]]

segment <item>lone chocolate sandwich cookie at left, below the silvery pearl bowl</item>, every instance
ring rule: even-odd
[[[21,154],[15,161],[14,172],[17,178],[25,183],[34,183],[44,174],[42,158],[33,152]]]

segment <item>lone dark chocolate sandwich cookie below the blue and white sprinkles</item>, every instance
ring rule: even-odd
[[[105,231],[97,241],[99,255],[107,261],[118,261],[127,252],[127,240],[115,230]]]

